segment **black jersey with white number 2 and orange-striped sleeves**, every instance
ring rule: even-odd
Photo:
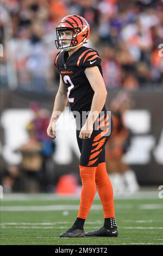
[[[96,50],[80,47],[70,57],[67,51],[61,51],[55,58],[55,66],[67,87],[68,102],[71,111],[90,111],[94,91],[87,80],[84,70],[98,66],[102,74],[101,58]]]

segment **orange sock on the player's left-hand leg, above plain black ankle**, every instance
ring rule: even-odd
[[[79,168],[80,178],[82,179],[82,191],[78,218],[86,220],[96,194],[95,173],[97,167],[79,166]]]

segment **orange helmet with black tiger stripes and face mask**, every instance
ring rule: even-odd
[[[72,39],[64,40],[68,42],[66,45],[63,45],[63,40],[60,39],[60,32],[66,30],[72,30],[73,35]],[[77,46],[89,41],[90,25],[82,16],[68,15],[60,21],[59,26],[56,28],[56,33],[57,40],[55,40],[55,45],[57,46],[57,48],[69,51],[72,48],[76,48]]]

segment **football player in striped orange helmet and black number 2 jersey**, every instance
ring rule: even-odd
[[[52,118],[47,128],[55,139],[55,123],[67,101],[77,123],[77,142],[80,156],[82,191],[76,221],[60,237],[117,236],[111,182],[105,165],[105,144],[111,133],[111,117],[105,108],[106,88],[102,76],[101,58],[92,48],[83,46],[89,41],[90,26],[79,15],[64,17],[56,28],[55,44],[61,51],[55,58],[60,73],[60,84],[55,97]],[[83,113],[86,113],[83,115]],[[96,187],[104,212],[104,225],[84,233],[84,222],[89,214]]]

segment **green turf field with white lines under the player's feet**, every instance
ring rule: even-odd
[[[1,199],[1,245],[163,245],[163,199],[157,192],[115,199],[118,237],[60,238],[77,217],[79,197],[11,194]],[[103,225],[95,198],[85,231]]]

